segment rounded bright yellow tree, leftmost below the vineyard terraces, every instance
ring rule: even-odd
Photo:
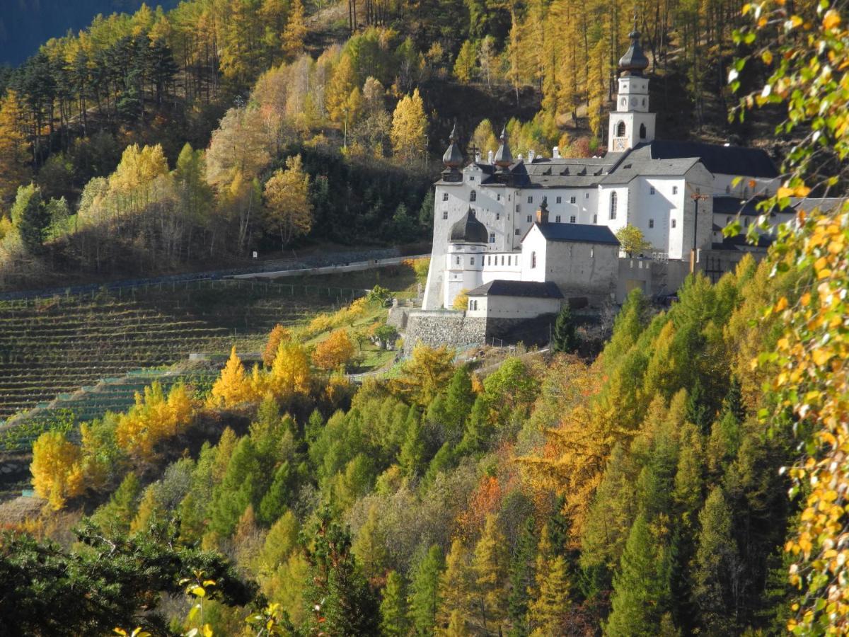
[[[32,487],[53,510],[83,492],[81,458],[80,448],[61,431],[46,431],[32,445]]]

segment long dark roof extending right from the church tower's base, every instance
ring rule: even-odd
[[[775,178],[779,170],[767,155],[759,148],[743,146],[723,146],[703,142],[679,142],[668,139],[655,139],[652,142],[638,144],[628,155],[628,160],[650,159],[668,160],[697,157],[714,174],[745,175],[747,177]],[[624,163],[627,163],[625,161]]]

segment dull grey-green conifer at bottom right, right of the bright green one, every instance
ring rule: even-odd
[[[693,600],[698,607],[699,634],[735,634],[731,595],[738,555],[732,536],[731,510],[722,488],[714,487],[699,514],[700,533],[693,571]]]

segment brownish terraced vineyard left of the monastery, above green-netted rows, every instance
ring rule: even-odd
[[[295,324],[356,294],[219,280],[0,302],[0,419],[190,352],[227,353],[233,344],[256,352],[274,324]]]

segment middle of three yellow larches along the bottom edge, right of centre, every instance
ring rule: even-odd
[[[500,632],[507,616],[506,549],[507,542],[498,528],[498,518],[492,514],[486,516],[486,525],[472,558],[475,586],[470,599],[470,614],[485,633]]]

